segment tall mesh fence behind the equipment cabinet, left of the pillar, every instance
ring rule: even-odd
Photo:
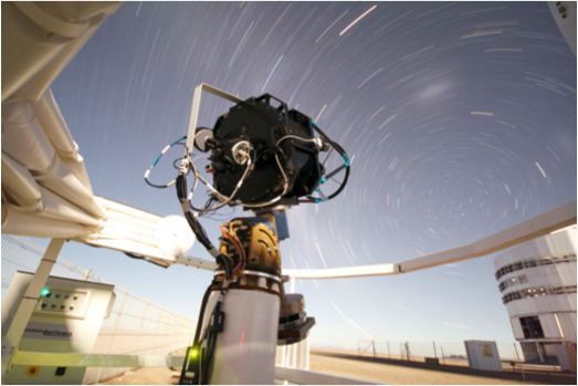
[[[2,298],[18,270],[35,272],[44,249],[23,237],[1,234]],[[63,258],[56,260],[52,275],[107,283],[90,270]],[[196,323],[162,306],[115,286],[116,301],[111,316],[103,321],[93,353],[168,355],[192,342]],[[88,367],[83,385],[107,379],[128,368]]]

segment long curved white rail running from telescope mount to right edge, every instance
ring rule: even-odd
[[[338,279],[406,273],[479,258],[576,223],[576,200],[473,243],[392,264],[283,270],[292,279]]]

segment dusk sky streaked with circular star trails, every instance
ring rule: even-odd
[[[51,88],[95,194],[160,216],[181,213],[176,191],[143,176],[187,133],[200,83],[270,93],[314,118],[351,175],[336,199],[288,211],[281,251],[283,268],[319,269],[455,248],[576,199],[576,63],[546,1],[127,1]],[[203,96],[199,125],[230,106]],[[181,154],[171,149],[151,181],[174,179]],[[201,220],[213,243],[232,210],[221,212]],[[188,254],[210,259],[198,242]],[[316,319],[312,346],[514,342],[495,255],[297,281]],[[193,321],[212,275],[78,243],[62,257]]]

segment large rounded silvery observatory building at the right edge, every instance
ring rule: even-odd
[[[511,248],[494,267],[526,362],[558,362],[576,342],[576,226]]]

